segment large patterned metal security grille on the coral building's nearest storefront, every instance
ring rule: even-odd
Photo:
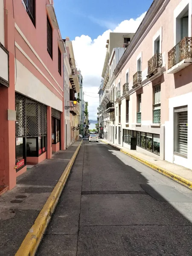
[[[16,137],[47,135],[47,106],[15,93]]]

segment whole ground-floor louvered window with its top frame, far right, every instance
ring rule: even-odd
[[[188,108],[175,108],[175,152],[187,157]]]

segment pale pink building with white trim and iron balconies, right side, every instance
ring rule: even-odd
[[[192,1],[154,0],[109,81],[108,140],[192,169],[191,64]]]

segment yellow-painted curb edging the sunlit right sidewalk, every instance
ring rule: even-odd
[[[102,142],[104,142],[104,143],[110,145],[110,143],[107,143],[107,142],[105,142],[105,141],[103,141],[103,140],[102,140]],[[134,158],[135,160],[139,161],[140,163],[145,164],[145,166],[150,167],[150,168],[153,169],[154,171],[160,172],[161,174],[163,174],[163,175],[165,175],[165,176],[171,178],[172,180],[177,181],[178,183],[180,183],[180,184],[186,186],[187,188],[192,189],[192,181],[187,180],[187,179],[185,179],[185,178],[183,178],[183,177],[181,177],[181,176],[179,176],[179,175],[176,175],[175,173],[169,172],[169,171],[167,171],[166,169],[163,169],[163,168],[161,168],[161,167],[159,167],[159,166],[156,166],[156,165],[154,165],[153,163],[150,163],[150,162],[148,162],[148,161],[146,161],[146,160],[144,160],[144,159],[142,159],[142,158],[140,158],[140,157],[137,157],[137,156],[135,156],[135,155],[133,155],[133,154],[130,154],[130,153],[128,153],[127,151],[124,151],[124,150],[122,150],[122,149],[120,149],[120,148],[119,148],[119,150],[120,150],[120,152],[122,152],[122,153],[128,155],[129,157]]]

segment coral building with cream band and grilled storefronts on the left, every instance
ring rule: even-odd
[[[0,19],[0,186],[12,189],[27,163],[64,149],[65,46],[52,0],[0,1]]]

